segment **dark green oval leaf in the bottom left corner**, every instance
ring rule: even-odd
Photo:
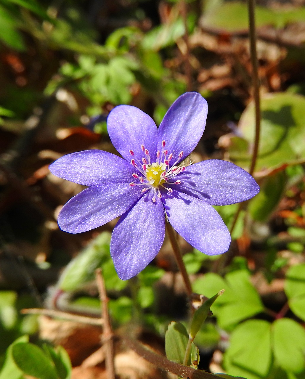
[[[58,379],[53,362],[32,343],[19,342],[12,347],[17,367],[25,374],[38,379]]]

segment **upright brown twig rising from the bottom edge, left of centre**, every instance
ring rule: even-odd
[[[102,277],[102,270],[99,268],[95,271],[95,278],[97,282],[97,288],[100,294],[102,319],[104,321],[103,327],[103,343],[105,344],[105,366],[108,379],[115,379],[114,371],[114,348],[113,348],[113,331],[110,324],[108,313],[108,298],[106,294],[106,288],[104,279]]]

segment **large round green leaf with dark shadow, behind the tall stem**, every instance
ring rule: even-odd
[[[256,171],[268,174],[305,161],[304,118],[303,96],[276,93],[261,98],[261,136]],[[239,122],[244,138],[233,137],[228,148],[230,159],[246,169],[250,163],[250,146],[254,143],[254,120],[254,105],[250,103]]]

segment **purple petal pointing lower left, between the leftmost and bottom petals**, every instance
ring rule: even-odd
[[[102,183],[72,197],[58,215],[65,232],[81,233],[106,224],[126,212],[143,194],[127,183]]]

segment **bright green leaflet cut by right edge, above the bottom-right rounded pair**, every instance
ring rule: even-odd
[[[285,279],[285,293],[289,307],[294,314],[305,321],[305,264],[288,269]]]

